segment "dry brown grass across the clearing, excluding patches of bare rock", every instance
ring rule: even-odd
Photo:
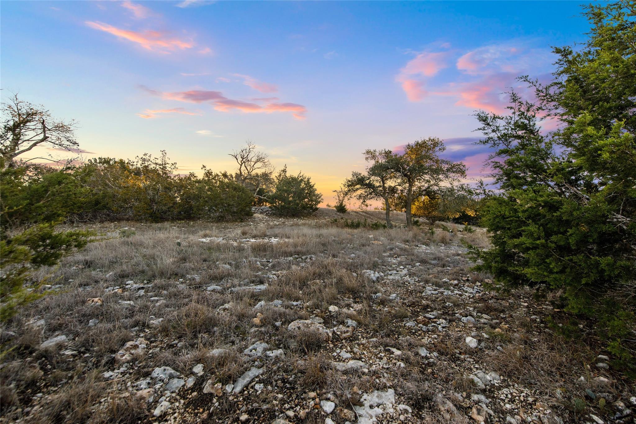
[[[67,257],[59,269],[41,272],[42,276],[53,273],[63,291],[46,296],[3,324],[3,331],[16,333],[6,339],[5,346],[11,350],[0,369],[3,418],[17,420],[24,413],[18,411],[35,403],[40,409],[28,414],[29,422],[148,421],[151,409],[124,395],[129,390],[125,382],[105,381],[101,376],[117,367],[114,353],[127,341],[143,337],[153,349],[130,362],[134,380],[146,378],[156,366],[170,366],[189,375],[194,365],[204,364],[205,379],[225,385],[259,362],[266,364],[268,372],[280,367],[279,374],[267,376],[266,385],[284,387],[286,397],[322,391],[333,395],[339,406],[351,409],[354,386],[368,393],[385,390],[387,381],[392,381],[399,402],[417,409],[413,417],[418,422],[446,422],[432,401],[437,393],[464,393],[469,399],[471,393],[478,392],[466,377],[471,362],[466,361],[464,338],[473,329],[464,327],[455,312],[447,313],[467,307],[473,308],[473,315],[483,313],[493,320],[493,324],[480,324],[479,334],[489,338],[485,339],[485,349],[470,352],[471,359],[488,371],[531,387],[539,393],[539,399],[561,407],[563,416],[571,418],[569,406],[558,404],[554,392],[565,388],[565,403],[572,397],[584,397],[584,389],[591,386],[576,381],[580,375],[590,374],[588,365],[595,357],[592,348],[581,352],[581,346],[555,339],[531,320],[529,313],[517,313],[515,297],[488,294],[467,300],[452,293],[436,300],[422,294],[426,287],[453,291],[456,287],[452,280],[471,284],[488,280],[488,275],[470,271],[470,264],[455,249],[462,240],[488,247],[482,229],[467,233],[448,223],[441,223],[433,234],[428,228],[350,229],[331,224],[334,217],[342,215],[320,210],[311,221],[111,223],[98,228],[114,237]],[[384,219],[384,212],[354,211],[346,217],[375,222]],[[403,214],[392,214],[392,219],[398,224],[404,222]],[[115,230],[121,227],[134,231],[130,229],[119,237]],[[198,241],[207,237],[223,237],[226,242]],[[268,240],[272,237],[280,241],[272,243]],[[242,241],[245,238],[258,241]],[[425,249],[417,248],[419,245]],[[380,284],[363,275],[364,270],[382,270],[387,261],[397,263],[398,259],[399,265],[409,268],[410,282]],[[144,294],[137,294],[140,288],[127,289],[128,280],[146,286]],[[258,292],[229,290],[258,284],[267,287]],[[209,285],[224,289],[207,291]],[[118,293],[114,287],[123,290]],[[378,292],[382,296],[374,299]],[[393,292],[401,297],[389,298]],[[529,294],[520,291],[516,296],[525,299]],[[92,297],[101,297],[103,305],[87,305],[86,299]],[[270,304],[275,300],[282,304]],[[260,301],[265,301],[265,306],[255,310]],[[300,304],[294,306],[292,302]],[[332,304],[340,310],[329,313]],[[427,332],[415,337],[404,324],[431,311],[443,311],[441,316],[452,326],[435,337]],[[262,314],[259,323],[252,320],[256,313]],[[290,322],[312,315],[323,318],[328,328],[347,319],[355,320],[358,327],[352,338],[341,340],[334,335],[331,341],[316,332],[287,331]],[[39,319],[46,324],[33,331],[27,323]],[[93,319],[99,323],[89,327]],[[506,327],[495,331],[504,322]],[[41,341],[59,334],[69,338],[77,355],[39,350]],[[372,338],[377,340],[365,343]],[[282,348],[286,357],[256,360],[242,354],[260,340],[272,350]],[[423,345],[438,355],[434,363],[417,354]],[[371,369],[368,373],[333,369],[331,362],[341,360],[335,349],[352,346],[385,355],[386,347],[397,348],[403,352],[399,361],[404,366]],[[225,351],[210,355],[216,348]],[[373,359],[373,355],[366,358]],[[193,390],[201,392],[201,386],[198,381]],[[38,392],[45,393],[46,401],[33,400]],[[270,394],[264,391],[254,395],[254,402],[269,404]],[[206,408],[213,404],[207,397],[200,402]],[[262,407],[246,406],[239,411],[227,397],[214,402],[218,407],[209,416],[212,421],[234,422],[245,410],[260,417],[254,422],[278,418]],[[469,412],[468,406],[462,407]],[[322,421],[324,416],[312,411],[304,422]]]

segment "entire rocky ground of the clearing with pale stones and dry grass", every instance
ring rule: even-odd
[[[636,422],[602,344],[471,271],[483,230],[336,216],[96,226],[3,324],[1,420]]]

